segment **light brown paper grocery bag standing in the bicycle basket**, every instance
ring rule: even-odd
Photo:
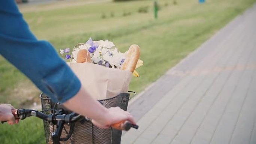
[[[96,99],[108,99],[128,92],[132,73],[92,63],[68,63],[89,93]]]

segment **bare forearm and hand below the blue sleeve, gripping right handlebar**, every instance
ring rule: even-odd
[[[103,107],[100,102],[92,98],[83,87],[81,87],[76,96],[65,102],[64,106],[83,116],[90,117],[94,125],[100,128],[108,128],[110,125],[123,120],[129,120],[132,124],[136,124],[131,114],[127,111],[119,107],[108,109]]]

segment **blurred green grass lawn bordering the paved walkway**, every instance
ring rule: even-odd
[[[21,11],[24,11],[24,18],[33,33],[39,39],[49,40],[57,50],[73,48],[76,43],[86,42],[89,37],[93,40],[108,39],[121,52],[125,52],[132,44],[139,45],[144,65],[137,70],[140,77],[132,79],[130,90],[140,92],[255,1],[208,0],[199,4],[196,0],[179,0],[174,5],[170,0],[161,0],[161,10],[156,20],[153,18],[151,0],[108,1],[56,9],[44,4],[33,11],[22,7]],[[144,6],[149,7],[148,13],[138,13],[138,9]],[[103,19],[103,15],[106,18]],[[31,82],[2,57],[0,79],[1,102],[19,107],[22,99],[28,99],[27,95],[38,96],[39,91],[31,88]],[[1,125],[0,141],[18,144],[22,141],[19,135],[32,137],[34,134],[34,137],[23,143],[32,144],[39,139],[44,143],[43,136],[38,137],[39,133],[43,135],[42,124],[34,120],[21,121],[15,126]]]

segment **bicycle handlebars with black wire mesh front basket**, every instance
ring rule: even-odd
[[[12,110],[12,113],[16,119],[24,120],[30,116],[42,119],[46,144],[120,144],[122,130],[138,129],[137,125],[128,121],[113,124],[109,129],[100,129],[88,117],[69,111],[60,103],[52,102],[47,95],[41,94],[40,98],[42,111],[22,108]],[[119,106],[127,110],[129,99],[128,93],[121,93],[99,102],[107,108]]]

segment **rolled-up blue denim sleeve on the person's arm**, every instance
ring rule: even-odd
[[[0,2],[0,54],[55,102],[67,101],[81,87],[54,47],[31,33],[14,0]]]

